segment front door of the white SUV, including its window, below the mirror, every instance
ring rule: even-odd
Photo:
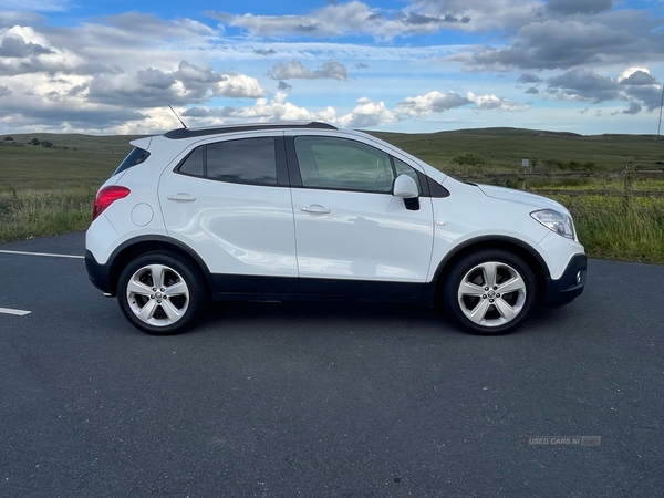
[[[430,198],[413,210],[394,197],[402,172],[383,151],[336,137],[293,141],[289,163],[297,162],[301,177],[292,188],[299,291],[419,295],[432,255]]]

